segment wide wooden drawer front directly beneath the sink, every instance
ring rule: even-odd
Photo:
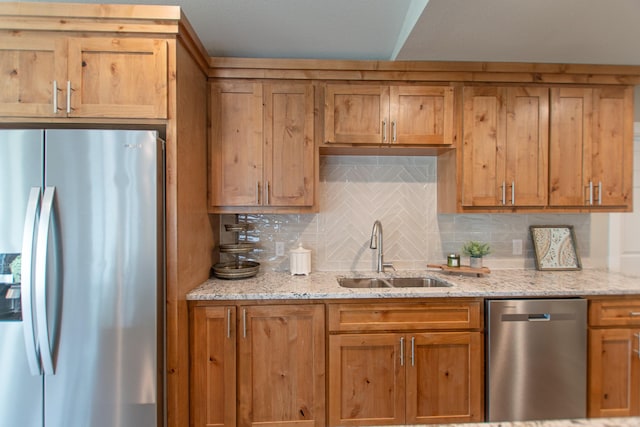
[[[330,304],[329,331],[477,329],[481,307],[479,300]]]

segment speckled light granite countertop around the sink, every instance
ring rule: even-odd
[[[434,288],[351,289],[338,285],[337,277],[417,277],[442,279],[452,286]],[[193,289],[188,300],[357,299],[423,297],[567,297],[640,295],[640,277],[605,270],[538,271],[493,270],[476,277],[440,270],[375,272],[312,272],[292,276],[287,272],[259,272],[243,280],[210,279]]]

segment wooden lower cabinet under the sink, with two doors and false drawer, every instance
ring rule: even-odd
[[[480,305],[450,305],[427,303],[422,310],[420,303],[330,305],[329,425],[483,421]],[[441,320],[474,330],[405,330],[412,316],[415,324],[428,319],[437,328]],[[378,320],[364,324],[362,318]],[[385,324],[399,330],[375,330]],[[339,332],[348,325],[362,330]]]

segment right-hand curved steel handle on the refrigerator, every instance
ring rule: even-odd
[[[36,320],[40,359],[45,375],[53,375],[53,355],[49,340],[47,321],[47,249],[49,246],[49,225],[53,213],[53,196],[55,187],[47,187],[42,197],[42,214],[38,224],[38,240],[36,245]]]

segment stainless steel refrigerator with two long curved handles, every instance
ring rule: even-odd
[[[162,148],[0,130],[0,427],[163,425]]]

